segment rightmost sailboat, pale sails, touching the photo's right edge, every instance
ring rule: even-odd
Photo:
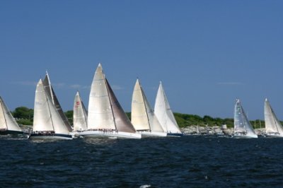
[[[283,137],[282,124],[277,119],[267,98],[265,99],[265,136]]]

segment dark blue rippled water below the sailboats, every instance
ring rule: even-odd
[[[283,187],[283,139],[0,139],[0,187]]]

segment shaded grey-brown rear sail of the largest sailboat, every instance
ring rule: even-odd
[[[122,109],[120,103],[118,102],[112,88],[110,87],[108,80],[105,78],[106,87],[108,89],[108,94],[110,98],[110,102],[112,104],[112,112],[115,119],[116,128],[118,131],[125,131],[135,133],[136,129],[132,125],[131,121],[125,114],[124,110]]]

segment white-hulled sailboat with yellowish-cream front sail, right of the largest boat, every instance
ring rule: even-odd
[[[142,136],[167,136],[137,79],[132,95],[132,124]]]

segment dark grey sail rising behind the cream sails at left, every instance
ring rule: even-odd
[[[62,110],[62,107],[61,107],[61,105],[59,103],[59,100],[57,99],[57,96],[55,95],[54,90],[53,90],[53,88],[51,86],[50,78],[49,78],[49,75],[48,75],[47,71],[46,71],[45,79],[43,80],[42,83],[43,83],[43,86],[45,88],[45,91],[46,91],[47,95],[50,96],[50,98],[52,100],[52,103],[56,107],[56,110],[58,111],[60,117],[63,119],[64,124],[66,125],[68,130],[71,131],[71,126],[69,124],[69,121],[68,121],[66,115],[64,114],[64,112]]]

